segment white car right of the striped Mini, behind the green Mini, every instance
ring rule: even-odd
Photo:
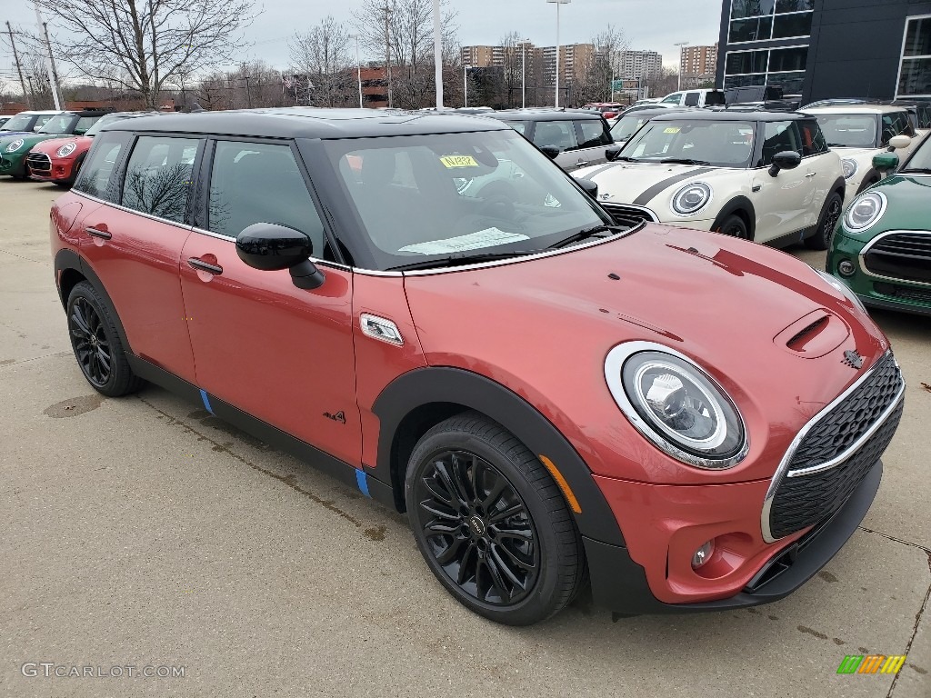
[[[872,166],[873,155],[894,150],[904,162],[921,141],[904,106],[830,104],[805,107],[803,114],[817,119],[828,147],[841,156],[848,202],[884,178]]]

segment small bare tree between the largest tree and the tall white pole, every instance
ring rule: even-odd
[[[327,16],[309,32],[294,34],[289,42],[292,72],[309,80],[310,101],[318,107],[354,103],[356,78],[351,73],[351,37],[341,22]]]

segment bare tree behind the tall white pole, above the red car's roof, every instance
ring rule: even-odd
[[[440,0],[444,59],[452,55],[455,11]],[[432,0],[364,0],[354,13],[360,40],[386,62],[393,106],[417,109],[432,102],[436,88],[433,69]]]

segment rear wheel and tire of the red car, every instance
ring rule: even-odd
[[[68,295],[68,334],[77,365],[98,393],[119,397],[135,393],[142,379],[132,372],[114,318],[87,281]]]

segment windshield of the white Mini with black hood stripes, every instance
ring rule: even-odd
[[[753,154],[750,121],[653,120],[627,141],[622,160],[747,168]]]

